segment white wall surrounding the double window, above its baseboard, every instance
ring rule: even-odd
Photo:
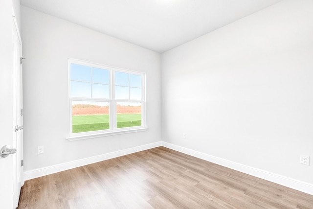
[[[22,6],[24,171],[161,140],[160,54]],[[148,131],[68,141],[67,58],[146,73]],[[37,154],[43,145],[44,154]]]

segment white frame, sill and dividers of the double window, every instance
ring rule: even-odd
[[[109,70],[109,98],[102,99],[102,98],[86,98],[86,97],[71,97],[70,95],[70,65],[71,64],[78,64],[83,66],[88,66],[91,68],[99,68],[104,70]],[[146,73],[122,68],[116,68],[112,66],[91,63],[88,61],[77,60],[68,58],[67,59],[67,71],[68,71],[68,105],[69,105],[69,135],[66,139],[68,140],[79,140],[79,139],[91,139],[96,137],[104,137],[104,136],[111,136],[116,134],[125,134],[125,133],[132,133],[138,131],[146,131],[148,129],[146,123]],[[141,76],[141,99],[115,99],[115,71],[140,75]],[[91,72],[92,74],[92,72]],[[91,84],[92,86],[92,80]],[[129,86],[129,88],[131,88]],[[90,90],[92,92],[92,89]],[[130,90],[129,90],[130,91]],[[92,95],[92,94],[91,94]],[[90,96],[91,97],[91,96]],[[130,95],[129,95],[130,98]],[[109,102],[109,118],[110,118],[110,128],[106,130],[98,130],[98,131],[89,131],[89,132],[80,132],[80,133],[73,133],[73,125],[72,125],[72,102],[73,101],[96,101],[96,102]],[[117,128],[117,102],[136,102],[141,103],[141,126],[131,126],[131,127],[124,127],[124,128]]]

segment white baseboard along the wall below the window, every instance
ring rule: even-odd
[[[141,145],[141,146],[137,146],[137,147],[132,147],[132,148],[128,148],[128,149],[123,149],[123,150],[119,150],[119,151],[115,151],[115,152],[110,152],[110,153],[106,153],[106,154],[102,154],[102,155],[97,155],[97,156],[93,156],[93,157],[89,157],[89,158],[85,158],[85,159],[80,159],[80,160],[76,160],[76,161],[71,161],[68,163],[61,163],[61,164],[56,164],[56,165],[52,165],[52,166],[47,166],[47,167],[43,167],[43,168],[25,171],[24,172],[24,180],[26,181],[26,180],[30,180],[30,179],[35,179],[35,178],[38,178],[41,176],[46,176],[46,175],[49,175],[52,173],[57,173],[57,172],[72,169],[75,167],[109,160],[112,158],[132,154],[135,152],[140,152],[140,151],[155,148],[158,146],[162,146],[162,141],[158,141],[158,142],[150,143],[150,144],[145,144],[145,145]]]

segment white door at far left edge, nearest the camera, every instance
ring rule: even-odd
[[[12,25],[11,1],[1,1],[0,6],[0,149],[15,144],[15,120],[13,109],[13,25]],[[6,158],[0,157],[0,208],[13,209],[16,188],[15,154]],[[15,207],[14,207],[15,208]]]

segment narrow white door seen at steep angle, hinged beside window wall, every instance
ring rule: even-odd
[[[21,193],[21,187],[24,184],[23,181],[23,113],[22,113],[22,41],[19,33],[16,20],[13,17],[13,99],[14,115],[15,115],[15,141],[14,147],[17,149],[14,155],[15,162],[15,194],[14,206],[18,207],[19,198]]]

